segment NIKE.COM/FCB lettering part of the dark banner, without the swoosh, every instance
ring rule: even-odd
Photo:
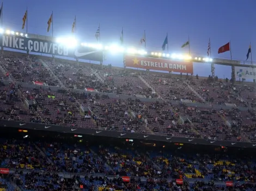
[[[69,56],[69,49],[61,44],[16,36],[2,36],[2,46],[35,53]]]

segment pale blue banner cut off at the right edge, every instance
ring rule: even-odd
[[[235,75],[236,75],[236,79],[241,78],[241,80],[242,79],[253,80],[256,77],[256,69],[235,66]]]

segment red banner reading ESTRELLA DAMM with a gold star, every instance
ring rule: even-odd
[[[125,55],[124,60],[126,67],[193,74],[193,62],[146,58],[134,55]]]

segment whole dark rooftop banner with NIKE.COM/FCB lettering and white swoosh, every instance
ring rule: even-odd
[[[102,50],[84,46],[69,48],[68,46],[53,41],[31,39],[29,36],[1,35],[0,46],[33,53],[53,54],[84,60],[103,60]]]

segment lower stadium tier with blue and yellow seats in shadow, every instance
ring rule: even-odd
[[[255,190],[253,149],[0,132],[0,190]]]

